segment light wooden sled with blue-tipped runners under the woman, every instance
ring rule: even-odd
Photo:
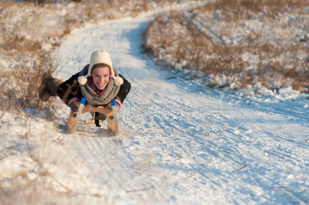
[[[112,111],[108,110],[107,108],[104,108],[103,106],[98,107],[92,107],[91,105],[85,106],[86,99],[82,97],[80,100],[80,105],[77,112],[70,113],[70,116],[68,118],[68,121],[66,122],[66,130],[70,133],[74,133],[77,129],[78,122],[80,120],[80,117],[83,113],[86,112],[98,112],[102,113],[106,116],[107,124],[108,124],[108,130],[114,135],[117,136],[120,134],[119,132],[119,121],[118,121],[118,113],[116,110],[116,101],[113,99],[111,100],[112,104]],[[85,123],[91,123],[94,122],[94,119],[87,120]]]

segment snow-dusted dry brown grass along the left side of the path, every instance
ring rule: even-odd
[[[57,68],[51,64],[60,59],[52,59],[51,51],[45,51],[43,47],[46,46],[43,45],[49,44],[51,50],[54,50],[60,45],[58,41],[70,34],[74,28],[87,22],[98,23],[104,19],[136,16],[147,11],[149,4],[153,2],[158,6],[166,4],[166,1],[162,0],[83,0],[72,8],[72,3],[68,7],[59,7],[55,4],[57,0],[49,1],[49,4],[43,7],[38,7],[31,1],[0,2],[0,31],[3,34],[0,37],[0,55],[18,62],[14,70],[8,68],[12,67],[11,61],[10,64],[0,64],[0,109],[24,111],[28,108],[44,109],[51,106],[38,100],[38,86],[42,73],[55,72]],[[63,10],[66,12],[64,16],[57,14]],[[50,18],[55,20],[57,25],[50,26]],[[44,26],[44,22],[48,26]],[[32,65],[24,63],[35,56],[36,60]],[[16,86],[12,87],[15,83]]]

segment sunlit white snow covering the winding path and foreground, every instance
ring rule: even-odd
[[[70,111],[61,100],[53,121],[44,113],[2,111],[1,186],[34,181],[38,203],[307,204],[307,96],[261,85],[252,87],[260,95],[246,96],[167,71],[142,54],[150,18],[89,25],[61,44],[56,77],[69,78],[93,51],[106,49],[131,83],[119,113],[121,135],[82,123],[76,134],[58,129]]]

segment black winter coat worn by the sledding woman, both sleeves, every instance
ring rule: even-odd
[[[68,105],[69,101],[74,97],[77,97],[79,100],[83,97],[83,94],[79,87],[79,83],[77,81],[78,76],[79,72],[70,77],[68,80],[61,83],[57,89],[58,96],[61,98],[62,101],[64,101],[66,105]],[[128,95],[131,89],[131,84],[128,82],[128,80],[125,80],[125,78],[122,77],[120,74],[119,76],[123,79],[123,84],[120,86],[120,90],[115,96],[115,99],[117,98],[121,101],[121,103],[123,103],[125,97]]]

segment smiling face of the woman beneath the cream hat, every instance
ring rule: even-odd
[[[99,90],[103,90],[105,86],[108,84],[109,80],[109,68],[105,67],[97,67],[91,72],[93,83]]]

